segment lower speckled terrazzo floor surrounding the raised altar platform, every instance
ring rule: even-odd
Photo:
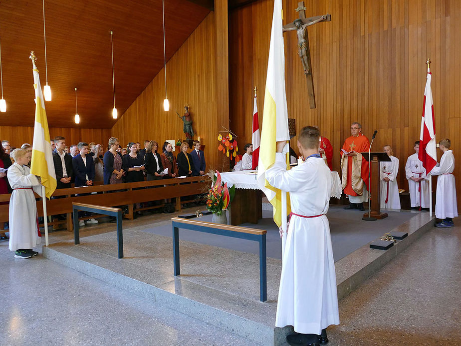
[[[51,242],[66,238],[71,233],[50,234]],[[328,329],[329,345],[461,345],[460,245],[460,226],[423,235],[340,301],[341,325]],[[6,241],[0,259],[0,345],[255,345],[41,254],[14,259]]]

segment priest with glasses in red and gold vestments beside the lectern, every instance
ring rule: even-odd
[[[351,134],[344,141],[341,150],[342,186],[349,198],[349,206],[344,209],[364,210],[363,202],[368,198],[368,161],[361,152],[368,151],[370,142],[362,134],[362,125],[354,122]]]

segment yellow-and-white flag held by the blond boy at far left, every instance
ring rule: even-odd
[[[56,190],[56,174],[54,173],[45,102],[36,68],[33,68],[33,87],[35,89],[35,124],[30,173],[41,177],[41,184],[45,187],[45,195],[49,199]]]

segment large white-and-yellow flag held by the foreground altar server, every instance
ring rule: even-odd
[[[290,139],[285,92],[285,52],[282,26],[282,0],[275,0],[262,113],[257,182],[273,206],[274,221],[279,227],[282,224],[282,191],[269,185],[265,179],[265,172],[275,162],[275,142]],[[283,152],[285,154],[289,152],[288,144]],[[287,202],[289,203],[289,198],[287,198]],[[289,213],[289,211],[289,207],[287,207],[286,213]],[[286,217],[286,215],[283,217]]]

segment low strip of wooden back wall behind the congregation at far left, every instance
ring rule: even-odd
[[[110,138],[110,129],[101,128],[71,128],[71,127],[50,127],[51,138],[63,136],[67,146],[77,144],[80,141],[87,143],[96,142],[107,146]],[[12,147],[20,147],[23,143],[32,144],[32,126],[0,126],[0,139],[8,140]]]

